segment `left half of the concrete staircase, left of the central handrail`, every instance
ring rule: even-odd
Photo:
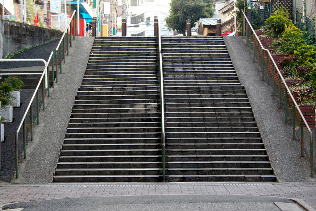
[[[95,38],[53,182],[161,181],[156,38]]]

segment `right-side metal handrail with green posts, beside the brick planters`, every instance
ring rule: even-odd
[[[312,131],[309,127],[309,125],[307,124],[307,121],[306,119],[304,118],[304,115],[302,114],[301,112],[301,109],[299,108],[299,106],[297,105],[296,103],[296,100],[294,99],[291,91],[289,90],[289,87],[288,85],[286,84],[279,68],[277,67],[274,59],[272,58],[272,55],[270,53],[270,51],[268,49],[265,49],[264,46],[262,45],[262,43],[260,42],[260,39],[258,38],[256,32],[254,31],[254,29],[252,28],[252,25],[251,23],[249,22],[248,18],[246,17],[245,13],[243,10],[241,10],[243,15],[244,15],[244,20],[247,21],[249,27],[250,27],[250,42],[249,42],[249,45],[250,45],[250,53],[251,53],[251,33],[253,32],[253,35],[254,37],[256,37],[256,39],[258,40],[258,44],[260,44],[261,48],[263,51],[267,51],[267,55],[269,55],[272,63],[273,63],[273,77],[275,77],[274,75],[274,72],[275,72],[275,69],[276,71],[278,72],[279,74],[279,108],[281,108],[281,80],[285,86],[285,97],[286,97],[286,110],[285,110],[285,122],[287,122],[287,117],[288,117],[288,109],[287,109],[287,103],[288,103],[288,94],[290,95],[292,101],[293,101],[293,139],[295,139],[295,108],[297,109],[297,111],[300,113],[301,115],[301,156],[303,157],[304,156],[304,128],[303,128],[303,122],[305,123],[307,129],[308,129],[308,132],[309,132],[309,137],[310,137],[310,162],[311,162],[311,177],[313,177],[313,174],[314,174],[314,165],[313,165],[313,134],[312,134]],[[246,23],[246,21],[244,21]],[[243,28],[245,29],[245,25],[243,25]],[[245,30],[246,31],[246,30]],[[253,39],[254,41],[254,39]],[[246,43],[248,42],[248,35],[247,35],[247,32],[246,32]],[[253,42],[254,43],[254,42]],[[258,49],[259,49],[259,46],[258,46]],[[255,49],[253,48],[253,57],[255,57]],[[264,79],[264,54],[262,54],[263,57],[262,57],[262,80]],[[269,64],[269,57],[267,57],[267,67],[268,67],[268,64]],[[257,59],[257,62],[258,62],[258,69],[259,69],[259,50],[258,50],[258,59]],[[269,71],[267,70],[267,85],[269,85]],[[273,80],[273,93],[274,95],[274,80]]]

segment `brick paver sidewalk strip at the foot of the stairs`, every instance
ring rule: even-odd
[[[316,208],[316,183],[2,183],[0,193],[0,204],[96,196],[246,194],[298,198]]]

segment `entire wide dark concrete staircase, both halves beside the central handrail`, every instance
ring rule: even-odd
[[[157,40],[95,38],[53,182],[160,182]],[[222,37],[162,37],[166,181],[276,181]]]

